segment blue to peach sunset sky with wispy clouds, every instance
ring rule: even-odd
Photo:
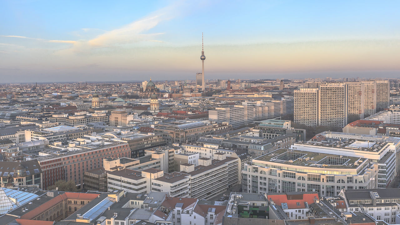
[[[400,77],[400,1],[0,0],[0,82]]]

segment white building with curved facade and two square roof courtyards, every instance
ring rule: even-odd
[[[378,165],[369,159],[278,149],[247,163],[242,188],[247,193],[317,191],[337,196],[341,189],[376,188]]]

